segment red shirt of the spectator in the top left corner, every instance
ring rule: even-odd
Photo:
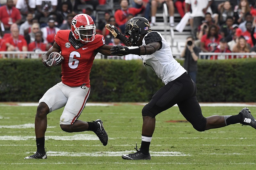
[[[15,7],[12,7],[11,10],[7,8],[6,5],[0,7],[0,20],[4,25],[11,26],[9,19],[12,18],[12,23],[15,23],[17,20],[21,19],[20,10]]]

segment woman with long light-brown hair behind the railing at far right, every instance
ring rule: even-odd
[[[233,53],[249,53],[250,49],[246,44],[246,40],[243,36],[238,38],[237,44],[232,49]],[[234,56],[236,58],[246,58],[246,55]]]

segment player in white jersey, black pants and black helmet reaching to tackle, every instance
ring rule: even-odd
[[[123,155],[123,159],[151,159],[149,145],[155,130],[156,115],[177,104],[181,114],[197,131],[205,131],[241,123],[256,129],[256,120],[248,108],[242,109],[234,116],[214,115],[204,117],[196,98],[196,84],[173,57],[170,45],[161,33],[152,31],[149,22],[143,17],[131,18],[126,23],[125,33],[121,34],[114,25],[106,28],[115,38],[126,46],[114,46],[113,55],[140,55],[144,66],[151,67],[165,84],[142,109],[141,146],[135,153]]]

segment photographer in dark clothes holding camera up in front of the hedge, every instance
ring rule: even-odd
[[[185,61],[183,67],[190,75],[191,79],[196,83],[196,73],[197,73],[197,60],[199,56],[200,48],[195,46],[193,36],[189,36],[186,39],[186,47],[180,54],[180,57],[184,57]]]

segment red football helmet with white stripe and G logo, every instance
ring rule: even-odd
[[[78,14],[71,21],[71,31],[76,40],[86,44],[95,38],[96,26],[87,14]]]

